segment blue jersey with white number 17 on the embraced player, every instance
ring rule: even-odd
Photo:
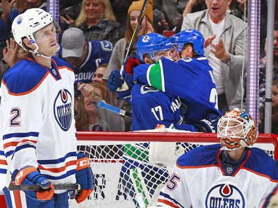
[[[170,96],[160,90],[136,83],[131,90],[132,126],[131,130],[148,130],[156,124],[169,128],[195,131],[193,125],[184,124],[181,101],[177,96]]]

